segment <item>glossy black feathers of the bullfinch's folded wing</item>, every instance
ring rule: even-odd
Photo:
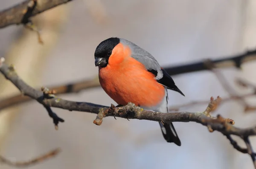
[[[170,90],[174,90],[178,93],[180,93],[181,95],[185,96],[180,89],[175,85],[175,82],[173,81],[172,77],[166,72],[166,70],[164,70],[163,68],[161,68],[162,72],[163,72],[163,77],[159,80],[157,80],[158,83],[160,83],[163,86],[166,86],[168,89]],[[157,70],[149,70],[149,72],[153,73],[155,76],[157,76]]]

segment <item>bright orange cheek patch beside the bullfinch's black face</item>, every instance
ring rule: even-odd
[[[119,65],[130,56],[131,49],[128,46],[119,43],[113,48],[112,54],[108,59],[108,65]]]

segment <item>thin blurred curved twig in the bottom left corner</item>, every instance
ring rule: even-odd
[[[18,161],[18,162],[12,162],[12,161],[0,156],[0,163],[4,163],[4,164],[7,164],[9,166],[15,166],[15,167],[27,167],[27,166],[31,166],[31,165],[34,165],[36,163],[40,163],[42,161],[45,161],[49,158],[52,158],[52,157],[56,156],[59,152],[60,152],[60,149],[54,149],[54,150],[48,152],[47,154],[41,155],[41,156],[39,156],[37,158],[34,158],[32,160]]]

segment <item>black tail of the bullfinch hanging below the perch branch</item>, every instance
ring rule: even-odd
[[[170,124],[162,124],[159,122],[163,137],[166,139],[168,143],[175,143],[177,146],[181,146],[180,139],[177,135],[177,132],[175,131],[175,128],[172,123]]]

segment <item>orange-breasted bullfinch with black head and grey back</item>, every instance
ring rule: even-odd
[[[185,96],[150,53],[119,37],[103,40],[94,53],[99,83],[118,105],[134,103],[145,110],[168,113],[168,92]],[[159,122],[164,139],[181,146],[172,123]]]

